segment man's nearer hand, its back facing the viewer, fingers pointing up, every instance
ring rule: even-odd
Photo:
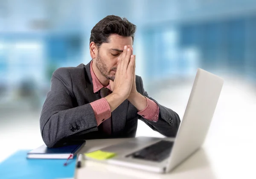
[[[117,94],[122,99],[127,99],[131,93],[133,84],[133,68],[135,57],[131,56],[132,50],[125,45],[121,57],[117,63],[115,80],[110,81],[113,94]]]

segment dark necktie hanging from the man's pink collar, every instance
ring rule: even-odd
[[[101,88],[100,90],[100,97],[106,97],[108,94],[110,94],[111,91],[108,88]],[[107,136],[111,135],[111,129],[112,129],[112,117],[105,119],[100,125],[99,130],[102,131],[103,134],[106,134]]]

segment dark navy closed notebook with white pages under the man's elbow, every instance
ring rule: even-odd
[[[73,159],[73,157],[84,146],[85,141],[76,142],[76,144],[64,144],[58,148],[48,148],[45,144],[29,151],[27,158],[29,159]]]

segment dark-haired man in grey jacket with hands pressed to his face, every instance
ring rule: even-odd
[[[160,134],[176,136],[178,114],[149,97],[135,75],[135,31],[125,18],[107,16],[91,31],[90,63],[54,71],[40,117],[48,147],[81,139],[135,137],[138,119]]]

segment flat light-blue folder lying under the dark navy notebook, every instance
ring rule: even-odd
[[[21,150],[0,163],[1,179],[61,179],[74,178],[76,156],[73,159],[27,159],[29,151]],[[64,166],[64,163],[67,165]]]

